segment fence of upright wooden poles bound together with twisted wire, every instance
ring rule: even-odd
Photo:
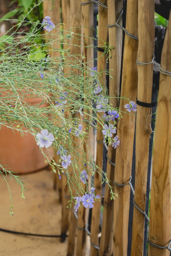
[[[169,2],[169,1],[168,1]],[[84,256],[87,236],[91,237],[90,256],[169,256],[171,252],[171,16],[165,32],[161,63],[154,54],[154,0],[54,0],[44,1],[44,14],[60,23],[62,7],[63,28],[72,27],[70,52],[83,54],[89,67],[94,67],[94,4],[98,5],[97,71],[108,70],[109,94],[114,108],[119,107],[123,118],[117,123],[120,146],[108,147],[106,172],[118,194],[111,201],[108,186],[102,194],[100,174],[94,175],[94,186],[101,200],[94,203],[91,215],[84,207],[78,213],[68,206],[66,178],[58,182],[63,212],[61,241],[68,230],[67,256]],[[124,4],[124,6],[123,6]],[[124,7],[124,8],[123,8]],[[50,14],[50,15],[49,15]],[[46,16],[45,15],[45,16]],[[123,17],[126,17],[125,20]],[[96,28],[95,28],[96,29]],[[77,35],[83,37],[84,46]],[[105,42],[111,47],[104,54]],[[77,44],[78,47],[74,47]],[[65,46],[67,49],[67,46]],[[154,96],[153,73],[160,72],[159,92]],[[77,73],[77,70],[74,72]],[[106,85],[106,75],[101,82]],[[137,102],[136,116],[125,113],[126,97]],[[151,116],[157,106],[155,123]],[[86,117],[84,113],[83,117]],[[153,118],[152,118],[153,119]],[[154,116],[155,119],[155,116]],[[153,127],[153,128],[151,128]],[[85,125],[86,128],[86,125]],[[103,134],[91,127],[86,143],[96,164],[103,168]],[[77,138],[76,138],[77,139]],[[76,140],[74,139],[74,140]],[[78,139],[77,139],[78,140]],[[95,143],[94,143],[95,141]],[[154,141],[154,143],[153,143]],[[79,141],[76,142],[76,145]],[[95,145],[96,144],[96,145]],[[85,145],[80,145],[86,151]],[[153,149],[153,154],[152,154]],[[134,152],[133,152],[134,151]],[[152,154],[152,158],[151,158]],[[151,160],[152,159],[152,160]],[[149,184],[152,161],[150,218],[148,218]],[[131,176],[132,175],[132,176]],[[134,176],[134,177],[133,177]],[[148,187],[148,188],[147,188]],[[100,225],[103,201],[103,221]],[[134,206],[134,207],[133,207]],[[91,228],[88,216],[91,216]],[[133,218],[132,218],[133,216]],[[55,218],[55,217],[54,217]],[[89,217],[90,219],[90,217]]]

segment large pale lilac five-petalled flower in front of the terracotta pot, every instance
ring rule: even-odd
[[[39,145],[41,148],[48,148],[54,141],[53,134],[49,133],[48,130],[42,130],[40,133],[36,135],[37,145]]]

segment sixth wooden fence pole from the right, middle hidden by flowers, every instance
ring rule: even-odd
[[[82,3],[85,3],[87,0],[82,0]],[[90,3],[88,5],[82,6],[82,35],[83,35],[83,55],[84,55],[84,62],[88,62],[88,66],[91,68],[93,67],[93,48],[89,47],[89,45],[93,44],[93,40],[90,38],[93,38],[93,21],[94,21],[94,12],[93,12],[93,3]],[[86,71],[86,67],[85,67]],[[84,73],[84,77],[86,79],[86,73]],[[84,112],[84,119],[89,119],[87,113]],[[83,129],[86,131],[86,123],[83,123]],[[90,159],[88,158],[88,155],[91,155],[93,157],[94,154],[94,131],[93,127],[90,128],[88,132],[88,137],[85,138],[85,142],[88,145],[88,148],[86,147],[84,143],[84,152],[86,154],[86,161],[89,162]],[[89,166],[87,166],[87,169],[89,169]],[[90,175],[90,174],[89,174]],[[86,189],[86,185],[83,184],[84,190]],[[85,231],[85,227],[88,224],[88,213],[89,209],[85,207],[81,207],[78,210],[78,230],[77,230],[77,249],[76,249],[76,256],[84,256],[85,255],[85,246],[86,246],[86,237],[87,233]]]

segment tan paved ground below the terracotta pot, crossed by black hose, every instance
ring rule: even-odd
[[[53,189],[53,172],[22,175],[26,183],[25,199],[20,186],[10,181],[14,216],[6,183],[0,183],[0,228],[26,233],[60,235],[61,205]],[[8,178],[9,180],[9,178]],[[0,182],[3,179],[0,177]],[[67,240],[14,235],[0,232],[0,256],[66,256]]]

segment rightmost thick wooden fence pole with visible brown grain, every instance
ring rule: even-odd
[[[162,49],[161,67],[171,72],[171,13]],[[171,240],[171,76],[160,73],[153,147],[149,240],[168,246]],[[149,256],[170,256],[149,244]]]

